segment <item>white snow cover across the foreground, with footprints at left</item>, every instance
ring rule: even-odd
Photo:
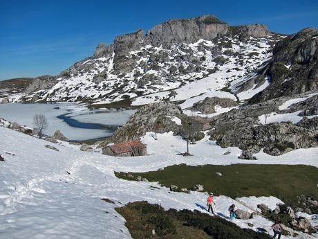
[[[55,145],[0,127],[0,238],[131,238],[124,226],[124,218],[115,210],[128,202],[147,200],[161,204],[165,209],[202,210],[205,193],[174,193],[158,187],[156,182],[133,182],[118,179],[118,172],[147,172],[165,166],[226,165],[231,163],[305,164],[318,167],[318,148],[294,150],[279,157],[256,154],[256,161],[237,159],[238,148],[223,149],[205,139],[190,145],[194,157],[180,157],[185,152],[185,141],[172,133],[158,134],[154,141],[151,133],[142,137],[148,145],[146,157],[108,157],[100,152],[82,152],[64,145]],[[45,148],[53,145],[59,151]],[[227,150],[231,153],[222,155]],[[108,198],[115,204],[105,203]],[[254,207],[251,197],[245,204]],[[230,197],[215,198],[216,211],[227,215],[227,208],[235,203],[238,209],[250,211]],[[265,198],[272,207],[279,200]],[[203,210],[202,210],[203,211]],[[106,213],[107,212],[107,213]],[[262,227],[270,231],[272,222],[256,216],[250,220],[234,220],[239,227]],[[272,233],[272,231],[271,231]],[[286,237],[282,237],[286,238]],[[307,238],[314,238],[307,236]]]

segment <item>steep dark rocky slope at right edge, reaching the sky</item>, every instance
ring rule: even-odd
[[[274,46],[273,57],[263,71],[270,86],[250,99],[260,103],[318,89],[318,29],[305,28]]]

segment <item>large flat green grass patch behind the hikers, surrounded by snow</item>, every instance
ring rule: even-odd
[[[221,172],[222,176],[216,175]],[[133,177],[128,177],[133,175]],[[229,166],[169,166],[153,172],[116,172],[117,177],[134,180],[141,176],[162,186],[176,185],[193,190],[201,184],[205,191],[232,198],[274,196],[286,204],[299,205],[299,195],[318,198],[318,168],[312,166],[232,164]],[[301,202],[300,202],[301,204]]]

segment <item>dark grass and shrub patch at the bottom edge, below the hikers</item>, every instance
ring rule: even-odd
[[[223,218],[213,217],[199,211],[169,209],[158,204],[133,202],[117,208],[126,222],[132,238],[185,238],[185,239],[265,239],[270,236],[241,229]],[[151,231],[155,230],[155,235]]]

